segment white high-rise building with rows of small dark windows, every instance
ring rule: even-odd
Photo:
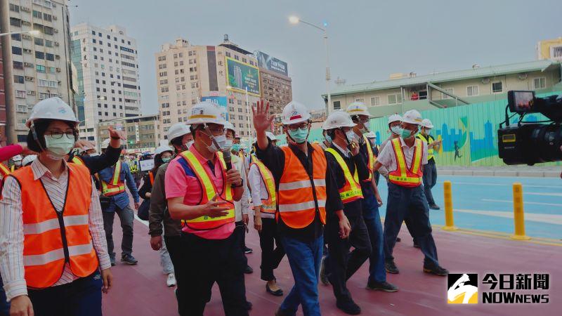
[[[74,25],[72,65],[80,138],[98,140],[98,122],[141,114],[141,86],[136,40],[117,25]]]

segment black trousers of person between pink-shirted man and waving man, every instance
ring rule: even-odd
[[[277,221],[275,218],[261,218],[261,232],[259,233],[259,246],[261,247],[261,279],[272,281],[275,279],[273,270],[277,269],[285,249],[281,244],[277,232]]]

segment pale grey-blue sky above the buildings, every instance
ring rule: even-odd
[[[137,41],[143,114],[158,112],[154,55],[183,37],[218,45],[223,35],[247,51],[289,64],[293,100],[323,106],[322,32],[327,23],[331,86],[535,60],[537,41],[562,36],[560,0],[70,0],[70,23],[117,24]]]

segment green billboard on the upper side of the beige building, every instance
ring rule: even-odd
[[[259,68],[233,58],[226,58],[226,84],[233,90],[260,96]]]

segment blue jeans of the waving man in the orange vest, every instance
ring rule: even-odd
[[[281,244],[289,258],[294,278],[294,286],[281,304],[281,309],[294,315],[299,304],[302,304],[305,316],[320,315],[318,274],[324,237],[320,236],[312,242],[301,242],[299,239],[282,236]]]

